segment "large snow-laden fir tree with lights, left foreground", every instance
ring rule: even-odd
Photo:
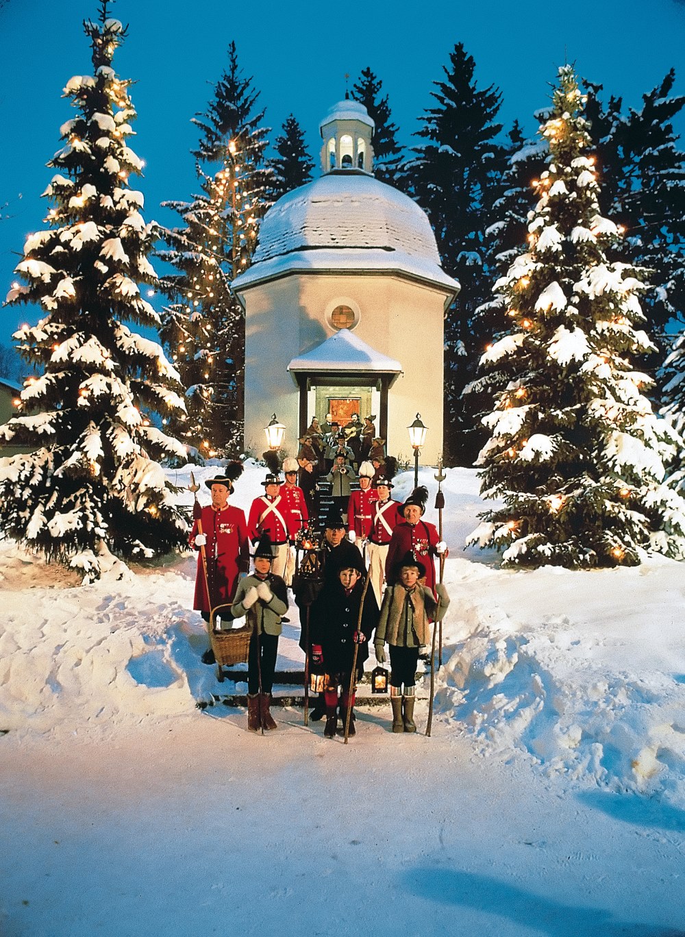
[[[186,453],[153,424],[155,412],[184,409],[178,374],[129,327],[159,320],[139,287],[156,284],[147,259],[156,233],[130,184],[142,166],[128,146],[131,82],[112,69],[126,30],[106,0],[83,26],[93,74],[67,82],[76,116],[48,163],[57,171],[43,193],[48,227],[28,236],[16,268],[24,283],[7,295],[46,315],[14,335],[39,376],[0,428],[0,439],[30,451],[0,459],[0,513],[8,536],[93,578],[112,552],[146,558],[186,543],[186,519],[152,457]]]

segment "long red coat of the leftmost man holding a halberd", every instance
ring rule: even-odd
[[[215,511],[212,505],[202,508],[202,533],[207,538],[204,555],[207,558],[207,580],[212,597],[212,607],[224,602],[231,602],[238,585],[239,573],[249,569],[249,546],[247,543],[247,524],[245,513],[240,508],[227,504],[222,511]],[[195,546],[198,522],[195,521],[190,532],[190,546]],[[193,608],[209,612],[210,602],[202,569],[202,556],[198,556],[198,572],[195,578],[195,598]]]

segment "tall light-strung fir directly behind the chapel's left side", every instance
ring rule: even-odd
[[[231,42],[229,67],[207,111],[194,118],[201,130],[193,151],[201,194],[166,203],[183,223],[163,232],[170,250],[159,252],[178,270],[161,284],[171,299],[161,335],[187,388],[182,438],[202,455],[237,455],[244,444],[245,316],[229,286],[248,266],[271,203],[273,171],[264,161],[269,128],[261,126],[259,95]]]

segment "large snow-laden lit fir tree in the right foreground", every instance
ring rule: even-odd
[[[645,286],[607,256],[619,231],[600,213],[584,103],[573,68],[560,68],[528,250],[497,284],[512,331],[483,357],[504,390],[484,418],[482,494],[503,505],[471,542],[503,549],[510,565],[685,555],[685,501],[663,483],[678,437],[652,412],[634,364],[653,348],[639,327]]]

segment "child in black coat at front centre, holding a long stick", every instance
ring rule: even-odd
[[[357,629],[364,594],[364,574],[364,563],[352,561],[351,565],[327,579],[311,607],[313,658],[315,662],[322,663],[325,672],[326,727],[323,734],[327,738],[335,738],[337,729],[338,687],[342,687],[340,715],[345,724],[350,710],[350,736],[354,735],[352,707],[355,694],[352,692],[350,695],[354,646],[359,646],[356,683],[364,673],[368,641],[379,619],[374,591],[368,588],[364,596],[361,627]]]

